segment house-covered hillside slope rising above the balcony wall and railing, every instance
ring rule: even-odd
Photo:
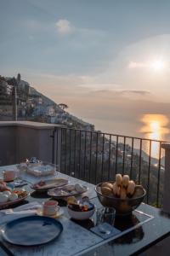
[[[14,88],[17,97],[17,115],[19,120],[33,120],[87,131],[94,131],[94,125],[65,111],[65,102],[59,105],[34,89],[28,82],[17,78],[0,76],[0,120],[11,120],[14,116]]]

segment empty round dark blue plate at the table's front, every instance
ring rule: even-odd
[[[54,218],[28,216],[14,219],[3,227],[5,241],[19,246],[37,246],[53,241],[63,231],[63,225]]]

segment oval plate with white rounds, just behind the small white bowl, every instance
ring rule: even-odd
[[[69,185],[70,186],[70,185]],[[60,191],[61,190],[64,190],[66,191],[67,186],[65,187],[62,187],[62,188],[55,188],[55,189],[49,189],[48,190],[48,195],[51,196],[51,197],[54,197],[54,198],[65,198],[65,197],[69,197],[69,196],[77,196],[77,195],[82,195],[83,193],[87,192],[88,191],[88,187],[86,186],[82,186],[83,187],[83,191],[82,192],[77,192],[75,191],[75,193],[73,192],[68,192],[68,195],[60,195]],[[67,191],[66,191],[67,192]]]

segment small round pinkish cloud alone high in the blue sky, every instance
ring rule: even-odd
[[[57,32],[60,35],[66,35],[70,34],[75,30],[75,27],[71,25],[71,22],[69,20],[60,19],[55,23],[55,26],[57,27]]]

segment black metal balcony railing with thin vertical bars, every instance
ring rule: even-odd
[[[126,173],[146,189],[145,202],[161,206],[165,142],[70,128],[56,128],[52,137],[60,172],[94,184]]]

